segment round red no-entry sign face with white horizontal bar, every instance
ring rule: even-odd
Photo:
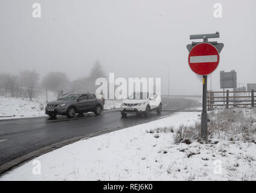
[[[219,51],[210,43],[199,43],[188,54],[191,70],[199,75],[210,74],[217,68],[219,62]]]

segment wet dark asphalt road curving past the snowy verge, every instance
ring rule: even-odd
[[[162,116],[179,112],[187,108],[199,106],[194,100],[184,98],[162,98],[163,110],[161,116],[152,112],[144,116],[127,115],[121,118],[119,110],[111,110],[95,116],[85,113],[84,116],[56,119],[47,116],[38,118],[21,118],[0,121],[0,166],[13,159],[24,156],[31,151],[47,147],[68,139],[88,136],[98,131],[120,129],[153,121]]]

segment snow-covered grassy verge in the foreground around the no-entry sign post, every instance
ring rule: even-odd
[[[66,145],[0,180],[256,180],[256,111],[209,114],[206,144],[200,113],[180,112]]]

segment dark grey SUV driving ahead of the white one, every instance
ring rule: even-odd
[[[69,118],[75,113],[94,112],[100,115],[103,110],[103,100],[96,98],[92,93],[69,93],[61,96],[57,101],[49,102],[45,107],[45,114],[51,117],[66,115]]]

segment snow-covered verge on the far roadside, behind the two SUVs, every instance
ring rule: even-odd
[[[57,99],[57,95],[48,96],[49,101]],[[28,118],[35,116],[46,116],[45,96],[37,96],[37,98],[14,98],[0,96],[0,120],[1,119],[16,119],[16,118]],[[106,100],[104,109],[111,110],[120,108],[120,101]]]

